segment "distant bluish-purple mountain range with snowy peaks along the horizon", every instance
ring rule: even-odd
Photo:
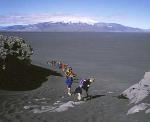
[[[29,25],[13,25],[0,27],[0,31],[37,31],[37,32],[150,32],[116,23],[64,23],[43,22]]]

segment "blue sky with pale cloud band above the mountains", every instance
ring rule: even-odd
[[[0,0],[0,26],[49,21],[150,29],[150,0]]]

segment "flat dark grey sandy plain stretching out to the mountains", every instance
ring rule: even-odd
[[[3,34],[27,39],[35,50],[33,64],[48,68],[47,60],[61,59],[72,66],[79,78],[95,76],[96,82],[89,91],[93,98],[73,106],[69,101],[75,101],[75,97],[66,94],[65,79],[60,76],[47,77],[40,87],[30,91],[1,90],[0,121],[149,122],[149,114],[143,112],[126,115],[132,105],[116,96],[150,71],[150,34]],[[77,86],[74,83],[73,89]]]

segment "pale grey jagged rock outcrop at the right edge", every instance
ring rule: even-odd
[[[125,90],[119,98],[127,98],[130,103],[135,104],[129,109],[127,114],[137,113],[141,110],[147,109],[145,113],[150,113],[150,104],[142,103],[142,101],[148,97],[150,93],[150,72],[146,72],[144,78],[137,84],[132,85]]]

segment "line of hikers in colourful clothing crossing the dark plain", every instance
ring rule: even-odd
[[[89,97],[88,89],[91,83],[95,81],[94,78],[79,79],[78,87],[74,90],[74,92],[72,92],[72,83],[77,77],[77,74],[74,73],[72,67],[70,67],[68,64],[63,63],[63,61],[56,60],[48,61],[47,64],[49,64],[52,68],[59,68],[60,70],[62,70],[63,74],[65,75],[65,84],[67,85],[67,93],[69,96],[73,94],[77,95],[77,99],[80,101],[83,98],[82,90],[84,90],[86,92],[86,97]]]

